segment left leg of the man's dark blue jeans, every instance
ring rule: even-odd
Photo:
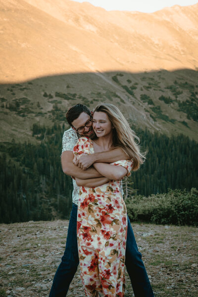
[[[53,278],[49,297],[65,297],[78,268],[77,211],[78,205],[73,203],[65,252]]]

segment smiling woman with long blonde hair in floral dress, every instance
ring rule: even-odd
[[[93,128],[98,138],[80,138],[73,150],[75,155],[121,147],[129,160],[95,163],[106,178],[103,185],[76,179],[80,186],[77,239],[81,278],[88,297],[98,297],[99,292],[104,297],[123,297],[127,214],[120,180],[130,175],[132,168],[137,170],[144,156],[134,141],[137,137],[114,105],[96,107]]]

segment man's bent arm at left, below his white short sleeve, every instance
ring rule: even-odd
[[[77,177],[79,179],[91,179],[101,177],[101,174],[94,168],[89,168],[83,171],[73,163],[74,154],[71,150],[65,150],[61,155],[62,171],[70,176]]]

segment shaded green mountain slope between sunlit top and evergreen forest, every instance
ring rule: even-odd
[[[0,141],[31,140],[33,123],[63,124],[77,102],[90,108],[109,102],[130,124],[165,134],[197,138],[198,72],[71,73],[0,85]]]

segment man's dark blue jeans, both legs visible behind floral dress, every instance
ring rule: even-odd
[[[78,206],[73,203],[65,252],[53,278],[49,297],[65,297],[78,268],[77,211]],[[135,297],[153,297],[147,271],[142,261],[142,255],[138,251],[129,218],[125,265],[131,279]]]

